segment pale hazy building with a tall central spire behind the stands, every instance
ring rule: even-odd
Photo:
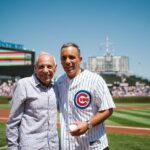
[[[108,37],[105,43],[104,56],[91,56],[88,58],[88,69],[98,74],[129,74],[129,57],[115,56],[109,49]]]

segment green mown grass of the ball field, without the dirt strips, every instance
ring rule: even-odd
[[[138,104],[117,104],[117,106],[150,106],[150,103]],[[3,105],[9,108],[8,105]],[[1,107],[2,108],[2,105]],[[107,125],[123,125],[150,128],[150,108],[144,109],[122,109],[115,110],[113,115],[106,121]],[[0,150],[6,146],[5,124],[0,124]],[[118,133],[108,133],[110,150],[149,150],[150,136],[125,135]],[[5,150],[5,149],[3,149]]]

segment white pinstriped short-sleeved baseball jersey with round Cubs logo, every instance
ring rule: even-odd
[[[98,111],[114,108],[109,89],[101,76],[84,70],[73,79],[58,81],[62,150],[103,150],[108,146],[104,123],[81,136],[71,136],[69,125],[87,121]]]

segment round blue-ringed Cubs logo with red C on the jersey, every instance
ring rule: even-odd
[[[75,94],[74,104],[80,109],[87,108],[91,103],[91,94],[88,91],[80,90]]]

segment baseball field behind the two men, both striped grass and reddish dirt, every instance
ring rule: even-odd
[[[150,103],[116,103],[106,121],[110,150],[150,149]],[[0,104],[0,150],[6,150],[9,104]],[[60,130],[58,128],[58,130]]]

